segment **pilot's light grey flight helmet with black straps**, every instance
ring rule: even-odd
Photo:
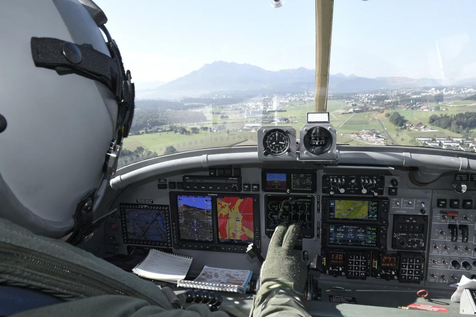
[[[0,9],[0,218],[71,243],[94,230],[134,112],[106,21],[91,0]]]

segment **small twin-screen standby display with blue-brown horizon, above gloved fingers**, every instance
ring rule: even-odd
[[[314,170],[270,170],[261,173],[262,188],[269,192],[314,193],[316,172]]]

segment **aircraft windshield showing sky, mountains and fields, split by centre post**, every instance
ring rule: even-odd
[[[313,112],[315,2],[97,0],[136,83],[119,167],[256,145]],[[475,151],[474,1],[334,2],[327,111],[340,144]]]

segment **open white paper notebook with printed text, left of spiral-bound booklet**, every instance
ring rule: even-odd
[[[148,279],[175,283],[185,279],[191,264],[189,256],[151,249],[132,272]]]

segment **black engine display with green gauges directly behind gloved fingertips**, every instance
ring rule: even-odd
[[[265,196],[266,235],[274,233],[276,226],[297,223],[301,227],[301,237],[314,236],[314,198],[312,196]]]

